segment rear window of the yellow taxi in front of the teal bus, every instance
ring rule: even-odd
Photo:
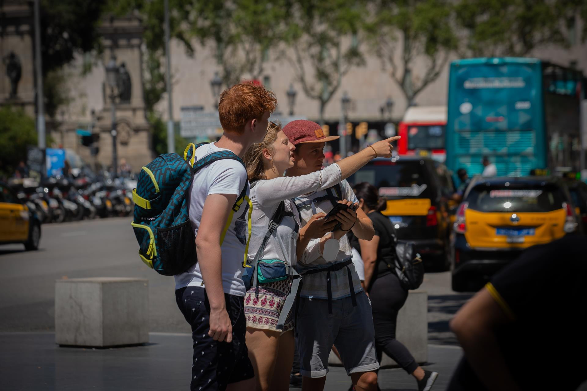
[[[552,212],[561,209],[564,195],[557,186],[475,186],[466,201],[480,212]]]

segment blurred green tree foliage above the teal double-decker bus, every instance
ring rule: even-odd
[[[460,0],[455,16],[467,36],[461,56],[528,56],[539,46],[568,46],[573,35],[587,34],[585,0]]]

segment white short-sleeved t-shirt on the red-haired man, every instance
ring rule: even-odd
[[[228,151],[228,149],[218,148],[215,143],[205,144],[195,151],[195,157],[201,159],[216,151]],[[238,197],[245,185],[248,196],[247,170],[240,162],[233,159],[215,161],[200,169],[195,174],[188,193],[188,208],[194,233],[198,234],[204,202],[208,195],[235,194]],[[222,251],[222,288],[224,288],[224,293],[237,296],[244,296],[246,293],[245,285],[242,282],[242,271],[244,270],[242,262],[248,238],[248,209],[248,203],[245,201],[241,204],[238,212],[234,213],[224,242],[220,247]],[[176,274],[175,279],[176,289],[187,286],[204,287],[200,263],[196,263],[184,273]]]

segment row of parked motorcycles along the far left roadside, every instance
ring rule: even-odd
[[[61,223],[133,213],[136,181],[108,175],[78,178],[51,177],[41,182],[12,183],[18,198],[42,223]]]

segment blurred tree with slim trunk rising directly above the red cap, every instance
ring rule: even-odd
[[[292,2],[284,59],[294,68],[306,96],[319,102],[320,122],[326,104],[342,77],[365,63],[359,33],[367,14],[366,2],[295,0]]]

